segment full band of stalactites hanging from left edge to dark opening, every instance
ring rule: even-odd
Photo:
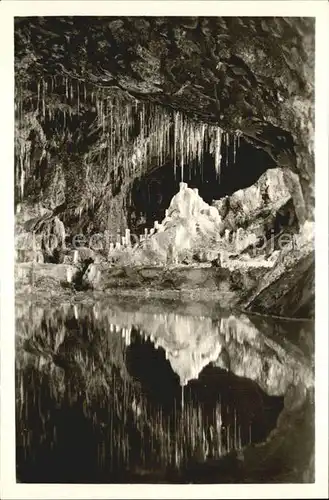
[[[175,178],[188,180],[199,169],[203,178],[205,154],[214,158],[220,182],[223,162],[233,161],[239,145],[239,134],[229,134],[216,125],[191,119],[180,111],[139,101],[118,89],[102,89],[68,76],[47,76],[31,89],[16,87],[16,120],[18,131],[24,127],[27,113],[34,116],[42,130],[52,122],[54,135],[60,141],[72,141],[77,123],[72,116],[94,113],[90,134],[97,140],[84,155],[87,194],[86,208],[104,186],[117,187],[164,164],[171,164]],[[40,126],[42,124],[42,127]],[[54,128],[55,127],[55,128]],[[18,132],[19,133],[19,132]],[[60,142],[59,141],[59,142]],[[23,145],[22,145],[23,144]],[[21,141],[16,154],[16,184],[20,197],[30,173],[30,145]],[[232,156],[232,155],[231,155]],[[88,198],[90,198],[88,200]]]

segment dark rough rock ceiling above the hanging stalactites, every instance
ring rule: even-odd
[[[293,133],[289,100],[312,99],[311,18],[16,18],[15,36],[17,79],[118,87],[265,148]]]

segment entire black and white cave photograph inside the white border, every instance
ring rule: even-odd
[[[13,19],[17,484],[317,479],[316,19],[174,4]]]

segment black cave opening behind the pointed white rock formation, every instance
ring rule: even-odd
[[[131,191],[130,225],[143,230],[153,227],[155,221],[161,221],[182,181],[197,188],[201,198],[211,205],[214,200],[251,186],[267,169],[277,166],[266,151],[243,138],[236,149],[233,144],[223,144],[221,156],[220,176],[216,172],[214,157],[205,152],[202,163],[196,159],[184,165],[183,175],[180,168],[175,171],[172,163],[165,163],[135,179]]]

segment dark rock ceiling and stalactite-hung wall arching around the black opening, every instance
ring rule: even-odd
[[[127,225],[133,181],[174,167],[177,114],[191,143],[205,123],[298,173],[313,217],[312,18],[16,18],[15,92],[16,200],[67,226]]]

